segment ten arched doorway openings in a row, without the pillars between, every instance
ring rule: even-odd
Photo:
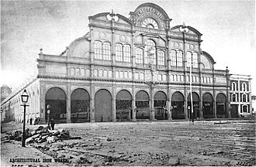
[[[200,118],[199,113],[199,95],[195,92],[192,93],[192,102],[190,94],[187,97],[188,106],[193,104],[194,117]],[[78,88],[71,93],[71,122],[86,122],[94,117],[95,121],[112,121],[113,107],[116,107],[116,120],[117,121],[130,121],[136,119],[150,119],[150,96],[145,90],[140,90],[135,95],[135,110],[132,108],[133,97],[128,90],[120,90],[116,94],[116,106],[112,103],[112,94],[109,90],[101,89],[95,93],[94,97],[94,110],[90,110],[91,97],[88,91]],[[214,118],[213,113],[213,96],[209,93],[202,96],[202,117]],[[224,94],[218,94],[216,97],[216,114],[226,117],[227,97]],[[67,121],[67,97],[59,87],[50,88],[47,91],[45,105],[50,105],[50,117],[54,118],[57,122]],[[157,120],[168,119],[168,97],[164,91],[157,91],[154,94],[154,110],[155,118]],[[171,95],[171,118],[172,119],[185,119],[185,97],[176,91]],[[134,113],[133,113],[134,112]],[[91,114],[94,114],[93,116]],[[45,115],[47,120],[47,114]]]

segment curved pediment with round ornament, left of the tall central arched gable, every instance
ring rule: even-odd
[[[88,19],[89,19],[90,23],[92,23],[95,20],[110,22],[111,19],[113,19],[113,21],[115,21],[116,23],[128,24],[130,26],[133,25],[133,22],[131,22],[130,19],[128,19],[125,16],[120,15],[120,14],[114,14],[113,12],[112,13],[102,12],[102,13],[99,13],[96,15],[89,16]]]

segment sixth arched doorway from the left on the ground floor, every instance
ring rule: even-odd
[[[167,116],[167,106],[166,106],[167,96],[163,91],[157,91],[154,94],[154,110],[155,110],[155,118],[157,120],[166,120]]]

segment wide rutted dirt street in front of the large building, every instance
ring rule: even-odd
[[[61,128],[81,139],[32,143],[20,151],[22,157],[15,153],[21,147],[6,151],[21,142],[1,141],[2,165],[31,165],[9,159],[34,158],[37,150],[43,152],[37,155],[41,158],[37,165],[256,165],[255,120],[56,124]],[[17,129],[22,124],[2,124],[2,137]],[[43,156],[52,158],[52,163],[42,162]]]

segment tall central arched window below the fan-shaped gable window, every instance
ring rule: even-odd
[[[156,44],[152,39],[147,39],[146,41],[146,46],[145,46],[145,63],[157,63],[157,58],[156,58]]]

